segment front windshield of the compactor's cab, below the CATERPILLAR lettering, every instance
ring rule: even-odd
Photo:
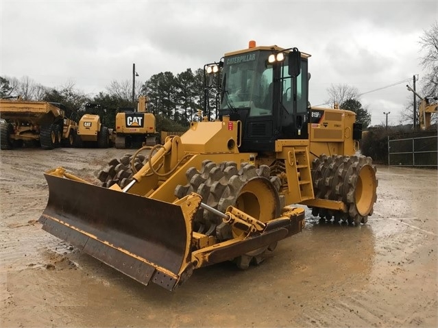
[[[255,51],[225,58],[221,109],[250,108],[250,116],[272,112],[272,65],[268,52]]]

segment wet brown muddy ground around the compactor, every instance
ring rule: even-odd
[[[174,292],[125,277],[42,231],[42,173],[84,179],[117,149],[1,151],[1,327],[437,327],[437,171],[378,166],[366,225],[322,224],[260,266],[196,270]],[[66,190],[66,192],[68,192]]]

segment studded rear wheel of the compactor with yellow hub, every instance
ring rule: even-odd
[[[367,223],[376,203],[376,166],[371,157],[363,155],[321,155],[313,161],[313,190],[315,197],[343,201],[347,213],[313,207],[313,216],[327,221]]]

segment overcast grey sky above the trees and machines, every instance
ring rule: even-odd
[[[400,122],[422,83],[419,38],[438,20],[438,0],[413,1],[40,1],[0,0],[0,76],[47,87],[73,82],[90,95],[111,81],[196,70],[257,45],[310,53],[309,100],[330,84],[363,94],[372,124]],[[418,85],[417,84],[417,85]],[[329,105],[328,105],[329,106]]]

